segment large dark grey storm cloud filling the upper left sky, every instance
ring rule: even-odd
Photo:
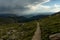
[[[13,12],[22,14],[29,10],[27,5],[35,5],[36,3],[44,2],[45,0],[0,0],[0,12]]]

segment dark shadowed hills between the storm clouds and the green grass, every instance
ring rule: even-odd
[[[39,19],[45,18],[47,16],[49,16],[49,15],[35,15],[35,16],[28,18],[28,16],[24,17],[24,16],[18,16],[16,14],[0,14],[0,19],[3,20],[4,22],[10,21],[10,22],[23,23],[23,22],[30,22],[33,20],[39,20]]]

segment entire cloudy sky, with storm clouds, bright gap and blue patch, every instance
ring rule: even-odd
[[[0,13],[25,15],[58,11],[60,0],[0,0]]]

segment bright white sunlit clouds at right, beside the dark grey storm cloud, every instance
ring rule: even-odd
[[[50,0],[46,0],[45,2],[39,3],[37,5],[28,5],[27,7],[30,8],[30,12],[59,12],[60,11],[60,5],[54,4],[53,6],[49,5],[43,5],[44,3],[48,3]]]

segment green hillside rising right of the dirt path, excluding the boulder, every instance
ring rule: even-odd
[[[39,20],[42,40],[49,40],[49,35],[60,33],[60,12]]]

